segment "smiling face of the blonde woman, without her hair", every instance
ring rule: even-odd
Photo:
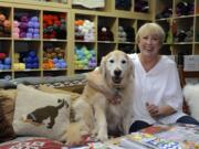
[[[160,42],[157,35],[149,34],[140,36],[138,46],[143,55],[154,57],[159,53]]]

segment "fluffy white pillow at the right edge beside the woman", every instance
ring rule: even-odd
[[[184,88],[184,96],[189,106],[190,115],[199,120],[199,84],[186,85]]]

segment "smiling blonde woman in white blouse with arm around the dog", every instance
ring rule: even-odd
[[[182,113],[182,93],[176,63],[168,56],[159,55],[164,40],[165,32],[156,23],[144,24],[136,34],[140,53],[129,54],[135,65],[134,117],[129,132],[155,123],[199,125]],[[96,75],[101,78],[97,71],[87,75],[90,85],[104,93],[107,98],[114,98],[114,94],[104,88],[102,78],[93,81]]]

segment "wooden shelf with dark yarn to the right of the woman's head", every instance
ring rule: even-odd
[[[198,8],[199,0],[158,0],[155,3],[154,21],[163,26],[167,38],[163,51],[175,55],[180,64],[185,55],[199,55]]]

